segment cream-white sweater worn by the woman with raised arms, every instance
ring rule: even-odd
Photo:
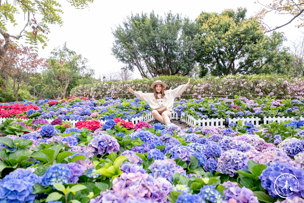
[[[134,95],[145,102],[147,102],[152,109],[159,107],[160,105],[164,105],[167,107],[168,111],[172,111],[174,99],[181,95],[186,89],[188,85],[181,85],[175,89],[169,89],[165,91],[165,96],[162,99],[156,99],[154,97],[154,93],[142,93],[141,91],[134,92]],[[157,103],[158,102],[158,103]]]

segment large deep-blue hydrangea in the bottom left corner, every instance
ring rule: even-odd
[[[6,175],[0,182],[0,202],[33,203],[33,185],[39,179],[30,169],[18,168]]]

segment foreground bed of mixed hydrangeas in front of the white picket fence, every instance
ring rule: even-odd
[[[223,131],[34,121],[0,125],[1,202],[279,202],[282,173],[299,180],[293,202],[304,201],[304,121]]]

